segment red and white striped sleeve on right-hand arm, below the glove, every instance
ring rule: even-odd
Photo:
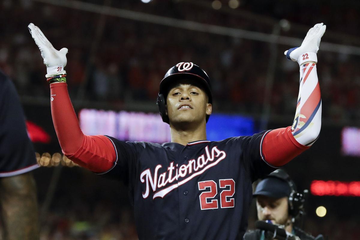
[[[300,90],[293,125],[267,132],[260,146],[261,158],[281,167],[318,139],[321,128],[321,96],[316,64],[300,66]]]

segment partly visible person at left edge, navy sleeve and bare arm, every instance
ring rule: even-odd
[[[12,81],[0,71],[0,218],[5,240],[39,239],[38,168]],[[1,238],[1,237],[0,237]]]

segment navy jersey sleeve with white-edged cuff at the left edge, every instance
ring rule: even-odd
[[[18,175],[38,167],[15,86],[0,71],[0,177]]]

